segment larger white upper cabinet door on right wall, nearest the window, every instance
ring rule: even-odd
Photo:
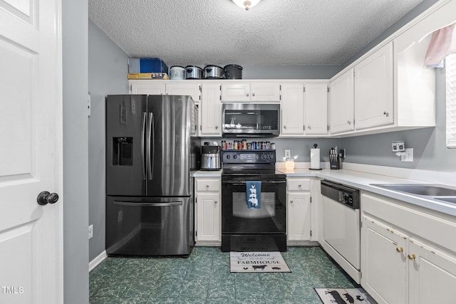
[[[393,105],[393,42],[390,42],[355,66],[356,129],[393,123]]]

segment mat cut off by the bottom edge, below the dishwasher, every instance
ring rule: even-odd
[[[363,288],[314,288],[324,304],[377,304]]]

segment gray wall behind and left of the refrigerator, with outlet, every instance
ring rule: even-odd
[[[105,95],[128,94],[128,56],[103,31],[88,21],[89,261],[105,251]]]

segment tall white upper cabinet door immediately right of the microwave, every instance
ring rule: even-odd
[[[304,84],[283,83],[281,135],[304,135]]]

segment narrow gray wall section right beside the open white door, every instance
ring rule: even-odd
[[[63,288],[66,304],[88,303],[87,0],[62,1]],[[46,288],[46,282],[43,283]]]

